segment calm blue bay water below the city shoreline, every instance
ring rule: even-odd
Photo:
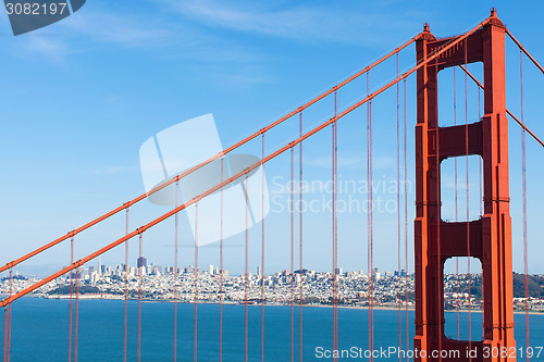
[[[82,300],[79,303],[78,361],[123,360],[123,301]],[[137,301],[129,301],[128,357],[136,361]],[[260,361],[260,307],[249,307],[249,361]],[[244,305],[224,305],[223,361],[244,361]],[[338,310],[341,349],[353,346],[368,348],[368,312]],[[413,313],[410,312],[410,333]],[[25,298],[13,304],[11,361],[67,361],[69,301]],[[404,319],[404,313],[403,313]],[[524,315],[516,314],[516,339],[524,344]],[[460,314],[461,325],[468,325],[467,313]],[[531,315],[531,345],[544,345],[544,315]],[[265,307],[265,360],[290,360],[290,308]],[[472,339],[481,337],[481,314],[472,313]],[[193,361],[194,305],[178,304],[178,361]],[[446,313],[446,334],[455,335],[456,313]],[[374,347],[398,346],[398,312],[374,311]],[[298,358],[298,309],[295,309],[295,358]],[[3,323],[0,329],[3,327]],[[316,358],[316,347],[332,349],[332,310],[304,309],[304,359]],[[466,328],[465,328],[466,329]],[[2,330],[3,336],[3,330]],[[173,304],[143,303],[141,361],[172,361]],[[410,335],[410,342],[413,336]],[[461,338],[467,337],[461,334]],[[406,337],[404,337],[406,340]],[[406,346],[404,346],[406,348]],[[542,353],[544,354],[544,352]],[[219,305],[198,305],[198,360],[219,360]],[[331,359],[332,360],[332,359]],[[350,359],[353,360],[353,359]],[[380,359],[381,360],[381,359]],[[398,361],[398,359],[393,359]],[[544,360],[541,355],[539,360]],[[346,359],[347,361],[347,359]]]

